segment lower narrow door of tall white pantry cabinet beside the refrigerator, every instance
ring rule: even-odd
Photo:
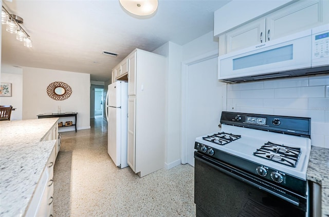
[[[136,98],[128,99],[128,147],[127,147],[127,162],[135,172],[135,153],[136,153],[136,138],[135,138],[135,120],[136,120]]]

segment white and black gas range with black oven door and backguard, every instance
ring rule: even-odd
[[[204,196],[198,195],[202,191],[209,191],[208,187],[201,187],[209,185],[204,183],[205,180],[203,184],[200,184],[200,180],[209,174],[203,171],[211,170],[199,168],[198,165],[205,163],[221,173],[232,176],[233,179],[239,179],[243,183],[260,189],[261,192],[266,192],[267,196],[279,198],[278,201],[285,202],[281,207],[286,206],[287,210],[294,210],[291,209],[293,206],[301,212],[296,216],[305,216],[307,213],[306,170],[311,148],[310,118],[222,112],[221,125],[221,132],[210,133],[195,139],[197,212],[207,210],[204,204],[209,206],[212,203]],[[203,167],[207,168],[207,166]],[[212,173],[215,174],[216,170]],[[199,175],[203,177],[198,177]],[[222,175],[218,175],[213,182],[217,182],[221,177]],[[208,177],[209,180],[211,178]],[[230,182],[235,182],[235,180],[230,180]],[[229,188],[230,182],[226,179],[225,182],[222,180],[217,185],[225,185],[224,190],[224,188]],[[220,191],[221,188],[218,186],[217,190]],[[241,191],[245,189],[249,187]],[[261,192],[257,195],[262,195]],[[225,195],[226,193],[222,194],[222,196]],[[223,200],[222,196],[218,200]],[[226,196],[229,197],[229,194]],[[211,197],[213,200],[217,194]],[[261,198],[264,197],[264,195],[260,196],[258,202],[262,204]],[[245,199],[241,203],[245,204],[248,200]],[[211,210],[205,213],[210,216],[224,216],[225,206],[233,208],[228,204],[222,206],[219,206],[218,212],[214,214],[211,214]],[[256,207],[259,206],[261,205],[258,204]],[[294,213],[299,213],[299,211],[295,210]]]

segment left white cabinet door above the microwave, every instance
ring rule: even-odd
[[[225,34],[226,53],[265,42],[265,18],[255,20]],[[222,39],[222,37],[220,37]],[[220,40],[220,43],[223,40]],[[223,50],[220,46],[220,50]]]

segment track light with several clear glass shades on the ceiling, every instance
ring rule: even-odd
[[[6,30],[10,33],[16,33],[16,39],[23,42],[25,47],[32,47],[30,35],[22,28],[23,18],[15,14],[11,14],[2,6],[1,23],[7,24]],[[18,29],[18,30],[17,30]]]

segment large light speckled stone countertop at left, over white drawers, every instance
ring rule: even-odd
[[[58,118],[0,121],[0,216],[23,216],[56,140]]]

